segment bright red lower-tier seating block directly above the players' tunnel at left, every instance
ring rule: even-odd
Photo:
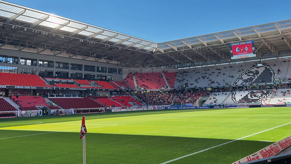
[[[35,106],[49,107],[45,98],[42,98],[41,96],[18,96],[18,98],[16,96],[11,96],[10,99],[18,104],[19,109],[22,111],[36,110]]]

